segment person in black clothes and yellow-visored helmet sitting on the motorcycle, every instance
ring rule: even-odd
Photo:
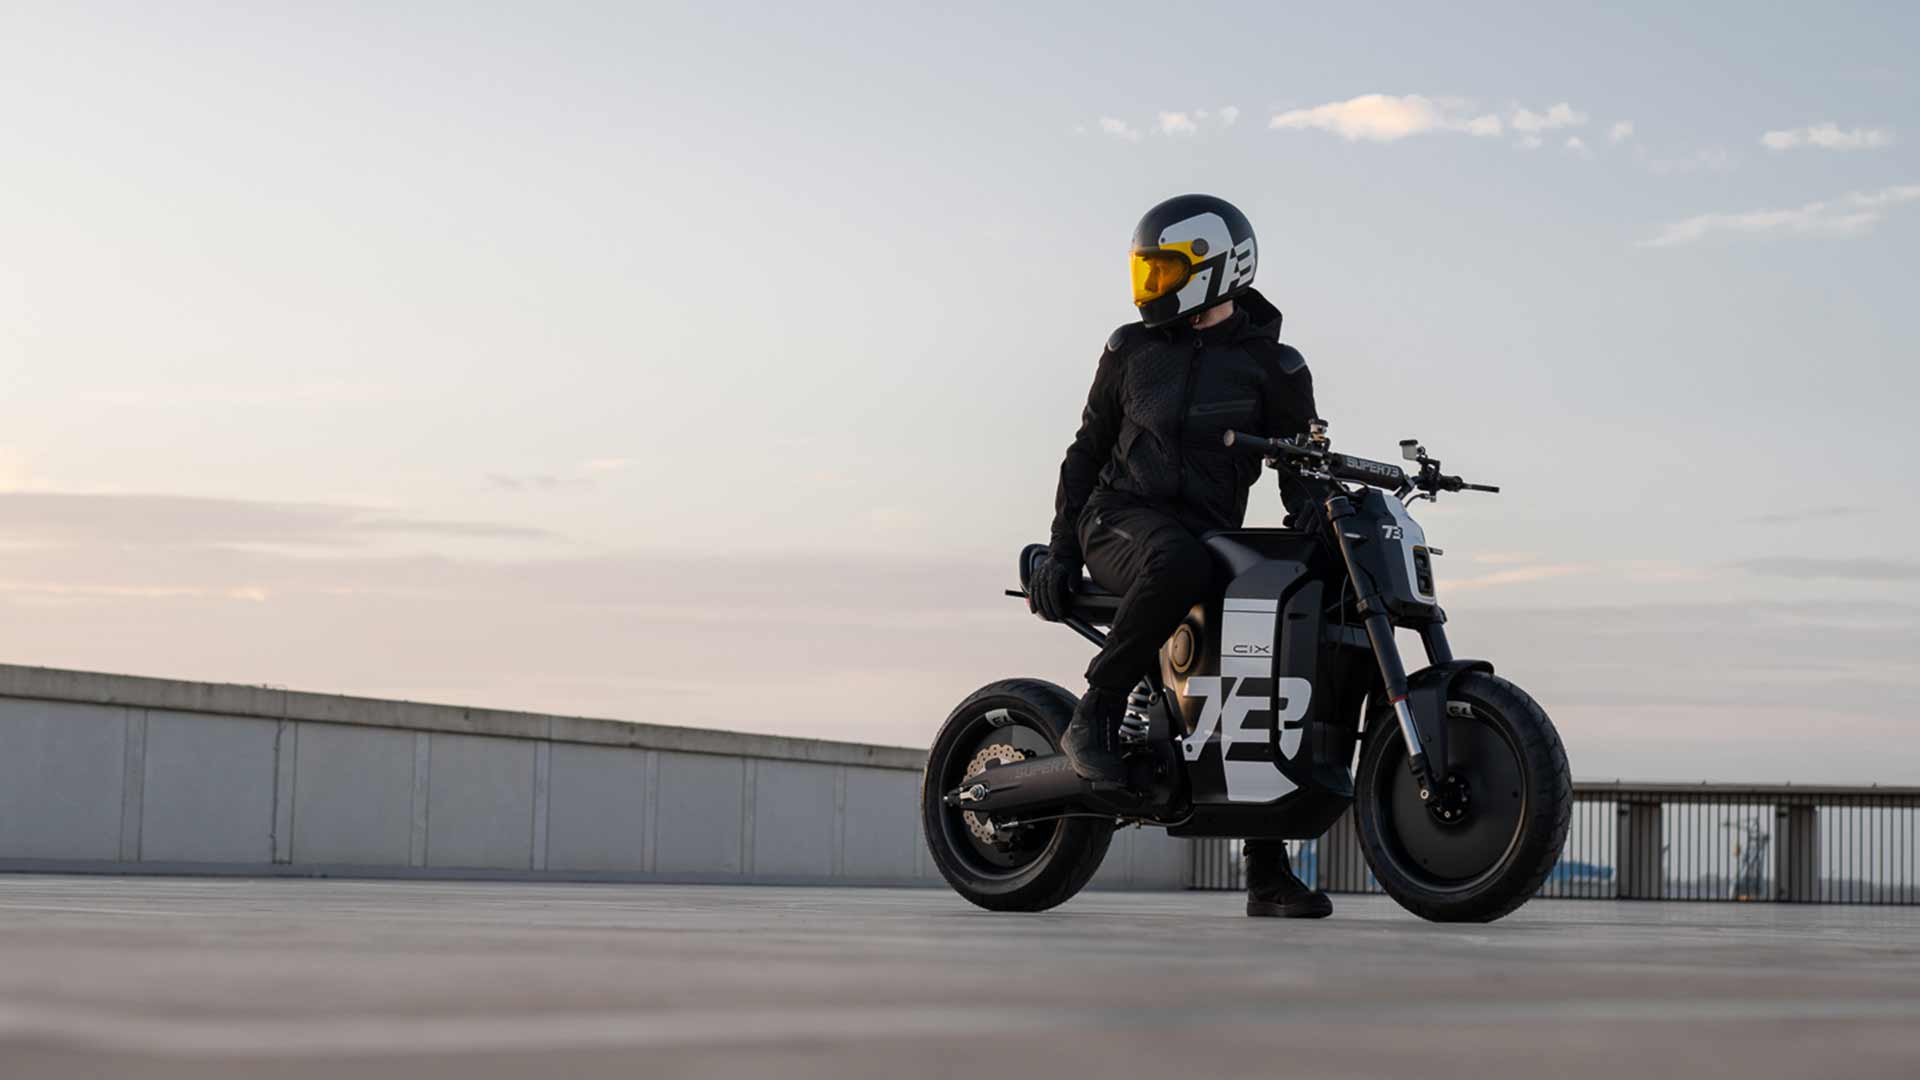
[[[1221,446],[1229,429],[1294,436],[1313,411],[1313,377],[1281,344],[1281,311],[1254,290],[1254,227],[1233,204],[1183,194],[1133,231],[1139,323],[1114,331],[1060,465],[1048,555],[1029,605],[1060,621],[1081,565],[1121,594],[1114,626],[1087,667],[1087,696],[1060,749],[1096,786],[1125,786],[1119,721],[1127,692],[1158,663],[1162,642],[1213,584],[1198,536],[1238,528],[1260,461]],[[1281,498],[1302,525],[1308,482],[1281,473]],[[1317,919],[1325,894],[1292,874],[1281,840],[1246,842],[1248,915]]]

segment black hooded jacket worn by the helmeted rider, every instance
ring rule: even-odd
[[[1281,344],[1281,311],[1260,292],[1244,292],[1235,313],[1206,331],[1185,323],[1114,331],[1060,463],[1052,555],[1081,559],[1079,519],[1089,505],[1150,505],[1196,534],[1238,528],[1260,457],[1221,446],[1221,432],[1294,436],[1313,415],[1308,361]],[[1298,509],[1309,492],[1288,479],[1281,496]]]

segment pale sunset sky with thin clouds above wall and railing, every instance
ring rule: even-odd
[[[0,661],[924,746],[1240,206],[1580,778],[1920,782],[1920,10],[0,6]],[[1269,486],[1250,523],[1273,525]]]

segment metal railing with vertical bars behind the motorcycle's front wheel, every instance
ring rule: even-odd
[[[1576,782],[1538,896],[1920,903],[1920,788]],[[1288,846],[1327,892],[1380,892],[1352,813]],[[1238,840],[1196,840],[1192,888],[1238,890]]]

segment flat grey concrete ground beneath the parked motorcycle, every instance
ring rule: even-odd
[[[1920,909],[0,876],[0,1076],[1920,1076]]]

